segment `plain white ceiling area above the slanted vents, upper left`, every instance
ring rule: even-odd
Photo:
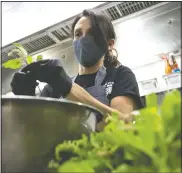
[[[104,2],[2,2],[2,46]]]

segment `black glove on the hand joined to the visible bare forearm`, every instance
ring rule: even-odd
[[[72,88],[72,80],[58,59],[34,62],[25,67],[25,70],[33,71],[40,82],[48,83],[53,88],[52,96],[55,98],[66,97]]]

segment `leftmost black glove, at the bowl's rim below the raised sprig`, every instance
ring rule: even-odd
[[[35,96],[35,88],[37,86],[35,75],[32,72],[20,72],[14,74],[11,81],[11,89],[15,95]]]

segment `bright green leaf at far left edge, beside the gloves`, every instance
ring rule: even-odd
[[[4,68],[10,68],[10,69],[19,69],[23,65],[20,58],[9,60],[2,64]]]

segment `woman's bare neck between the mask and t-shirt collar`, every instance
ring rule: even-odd
[[[92,67],[83,67],[82,65],[79,65],[78,73],[79,75],[96,73],[102,66],[103,60],[99,61],[96,65]]]

